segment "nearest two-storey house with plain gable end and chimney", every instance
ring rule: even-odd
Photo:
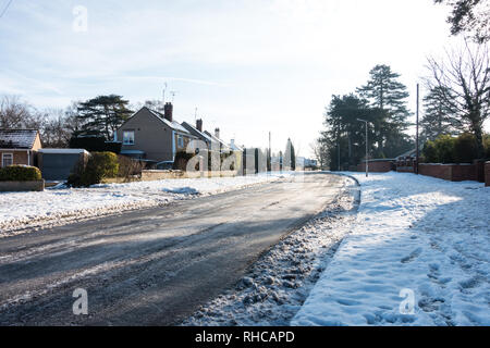
[[[177,151],[185,151],[197,139],[173,120],[173,105],[168,102],[164,113],[143,107],[115,132],[122,141],[121,154],[152,162],[173,161]]]

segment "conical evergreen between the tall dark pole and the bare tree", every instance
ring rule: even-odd
[[[432,87],[424,97],[424,116],[420,121],[422,140],[434,140],[443,134],[457,135],[463,124],[457,119],[457,109],[444,102],[444,95],[454,94],[446,87]]]

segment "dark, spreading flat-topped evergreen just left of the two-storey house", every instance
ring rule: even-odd
[[[118,127],[133,113],[127,105],[127,100],[115,95],[98,96],[81,102],[76,115],[81,126],[73,135],[96,135],[112,140]]]

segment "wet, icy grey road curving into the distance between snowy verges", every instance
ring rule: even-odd
[[[309,174],[0,239],[0,325],[177,324],[347,184]]]

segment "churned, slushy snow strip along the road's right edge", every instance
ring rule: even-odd
[[[233,288],[182,325],[287,325],[348,233],[357,184],[345,178],[332,206],[265,253]],[[358,195],[357,195],[358,196]]]

